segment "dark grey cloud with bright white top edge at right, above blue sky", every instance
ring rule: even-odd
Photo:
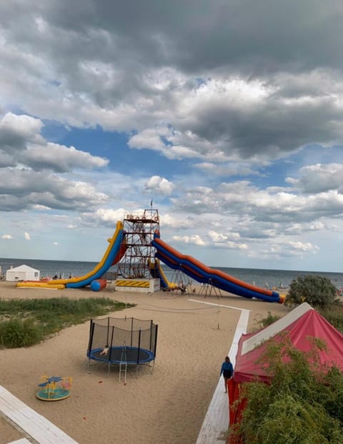
[[[292,99],[294,96],[276,92],[244,109],[224,101],[204,106],[189,128],[208,141],[222,139],[227,152],[239,151],[242,158],[254,153],[273,158],[308,143],[342,141],[343,125],[339,121],[343,121],[343,108],[337,107],[327,93],[319,96],[317,91],[313,100],[300,95],[298,100]]]

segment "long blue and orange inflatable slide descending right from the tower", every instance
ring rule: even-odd
[[[169,266],[169,268],[181,270],[194,279],[194,281],[208,283],[221,290],[228,291],[237,296],[243,296],[244,298],[257,298],[268,302],[284,302],[284,297],[280,296],[276,291],[253,286],[223,271],[210,268],[197,261],[197,259],[192,258],[192,256],[184,256],[166,242],[162,241],[161,238],[159,238],[158,232],[154,234],[154,240],[151,242],[151,245],[156,248],[156,258],[165,263],[166,266]]]

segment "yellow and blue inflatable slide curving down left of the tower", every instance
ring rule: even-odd
[[[23,281],[16,284],[17,287],[40,287],[40,288],[80,288],[91,286],[94,291],[101,290],[101,276],[109,270],[111,266],[119,262],[126,251],[125,233],[123,223],[116,223],[116,231],[111,238],[108,239],[107,247],[101,261],[93,268],[92,271],[84,276],[69,279],[49,279],[42,281]]]

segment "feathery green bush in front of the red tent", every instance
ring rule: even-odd
[[[231,433],[249,444],[342,444],[343,374],[320,367],[323,348],[313,339],[312,350],[303,353],[286,335],[279,343],[269,341],[259,364],[270,384],[243,384],[247,403]]]

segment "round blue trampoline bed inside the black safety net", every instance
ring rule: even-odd
[[[88,353],[89,359],[110,364],[144,364],[155,359],[154,353],[146,348],[111,347],[106,355],[101,355],[103,348],[94,348]]]

